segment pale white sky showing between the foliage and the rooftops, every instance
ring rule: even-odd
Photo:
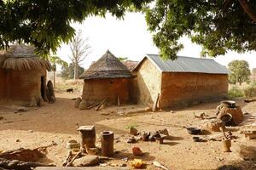
[[[88,68],[92,61],[101,58],[108,49],[116,57],[127,57],[137,61],[143,59],[145,54],[159,54],[159,49],[154,46],[152,35],[147,30],[144,15],[140,13],[126,14],[124,20],[118,20],[110,14],[107,14],[106,18],[90,17],[82,24],[74,23],[72,26],[76,31],[82,30],[84,39],[89,38],[91,53],[81,64],[84,68]],[[184,48],[177,55],[200,57],[201,46],[192,43],[187,37],[182,37],[180,41]],[[57,54],[61,59],[71,62],[68,57],[71,56],[71,51],[67,44],[61,45]],[[237,54],[230,51],[213,59],[226,66],[234,59],[244,59],[251,69],[256,68],[256,52]]]

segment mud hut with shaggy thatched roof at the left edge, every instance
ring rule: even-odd
[[[34,54],[34,48],[11,45],[0,51],[0,102],[38,105],[46,98],[49,61]]]

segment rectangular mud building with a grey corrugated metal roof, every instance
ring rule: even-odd
[[[133,71],[137,87],[132,96],[137,95],[138,103],[152,104],[160,94],[160,107],[184,107],[223,99],[228,92],[229,71],[213,59],[163,60],[148,54]]]

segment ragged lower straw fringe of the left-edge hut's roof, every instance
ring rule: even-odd
[[[40,59],[38,57],[30,58],[12,58],[9,57],[3,61],[4,69],[12,70],[31,70],[31,69],[47,69],[52,70],[48,60]]]

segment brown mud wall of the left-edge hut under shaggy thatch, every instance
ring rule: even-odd
[[[36,100],[42,99],[41,77],[46,78],[46,71],[2,70],[2,73],[0,73],[0,79],[3,82],[0,88],[1,100],[27,105],[32,97]]]

